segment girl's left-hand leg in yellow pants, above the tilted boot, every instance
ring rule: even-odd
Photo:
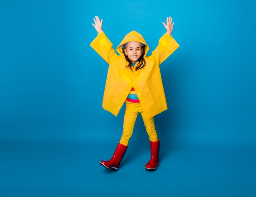
[[[124,129],[120,140],[120,144],[125,146],[128,145],[129,139],[132,136],[133,128],[139,111],[138,105],[138,103],[126,101],[126,110],[124,113]]]

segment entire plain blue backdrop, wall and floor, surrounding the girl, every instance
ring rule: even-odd
[[[1,196],[256,196],[256,4],[217,1],[1,1]],[[155,116],[161,164],[141,116],[118,172],[99,165],[119,142],[125,105],[104,111],[108,64],[90,47],[93,18],[116,49],[128,32],[161,64],[168,110]]]

